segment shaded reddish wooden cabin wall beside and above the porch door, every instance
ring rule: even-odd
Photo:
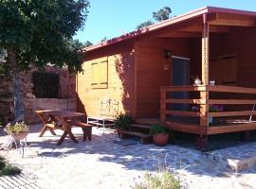
[[[190,57],[190,41],[184,38],[155,38],[136,43],[137,61],[137,118],[159,118],[160,86],[171,85],[172,55]],[[165,64],[169,66],[164,68]]]

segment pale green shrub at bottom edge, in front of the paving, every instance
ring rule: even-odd
[[[180,189],[181,182],[174,173],[167,170],[155,174],[146,173],[141,182],[132,189]]]

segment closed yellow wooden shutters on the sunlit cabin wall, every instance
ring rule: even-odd
[[[94,89],[107,88],[108,69],[107,60],[99,60],[92,63],[92,83]]]

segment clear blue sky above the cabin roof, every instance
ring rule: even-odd
[[[85,26],[74,37],[83,43],[99,43],[135,30],[152,19],[152,12],[165,6],[179,15],[206,6],[256,11],[256,0],[89,0],[91,7]]]

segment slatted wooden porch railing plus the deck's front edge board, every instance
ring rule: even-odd
[[[198,92],[200,99],[176,99],[172,98],[172,95],[167,95],[174,92]],[[191,131],[191,127],[188,132],[200,133],[202,135],[241,131],[248,129],[256,129],[256,124],[242,124],[239,126],[219,126],[219,127],[209,127],[209,117],[232,117],[232,116],[249,116],[256,115],[256,111],[252,111],[252,107],[256,102],[255,99],[210,99],[211,93],[225,93],[225,94],[256,94],[256,89],[245,88],[245,87],[234,87],[234,86],[222,86],[222,85],[200,85],[200,86],[166,86],[160,88],[161,98],[160,98],[160,119],[163,123],[170,123],[167,121],[167,115],[178,115],[184,117],[198,117],[200,118],[200,129],[196,127],[196,130]],[[227,96],[226,96],[227,97]],[[200,107],[199,112],[189,112],[189,111],[175,111],[167,109],[168,104],[194,104]],[[251,111],[229,111],[229,112],[209,112],[210,105],[251,105]],[[188,129],[188,126],[183,126],[182,124],[173,124],[172,128],[176,126],[178,129],[182,130]],[[195,127],[193,127],[195,128]],[[230,129],[229,129],[230,128]]]

